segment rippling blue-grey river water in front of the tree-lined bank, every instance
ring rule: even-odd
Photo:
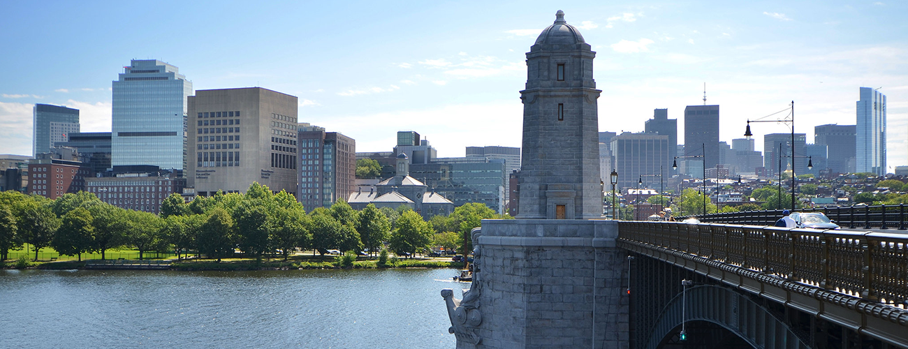
[[[0,347],[449,349],[454,275],[0,270]]]

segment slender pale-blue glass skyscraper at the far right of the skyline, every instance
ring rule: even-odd
[[[855,170],[886,174],[886,95],[870,87],[861,88],[857,102],[854,139]]]

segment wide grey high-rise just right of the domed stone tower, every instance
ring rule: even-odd
[[[617,188],[637,189],[639,180],[644,187],[659,189],[659,176],[667,182],[668,136],[655,133],[624,132],[612,137]]]

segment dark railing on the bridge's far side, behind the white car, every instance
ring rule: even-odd
[[[771,226],[782,218],[782,209],[713,213],[697,216],[701,222]],[[908,208],[898,205],[825,206],[798,208],[798,212],[823,212],[842,228],[908,229]]]

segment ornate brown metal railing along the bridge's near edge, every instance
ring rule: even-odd
[[[622,221],[618,238],[866,300],[908,305],[908,235]]]

